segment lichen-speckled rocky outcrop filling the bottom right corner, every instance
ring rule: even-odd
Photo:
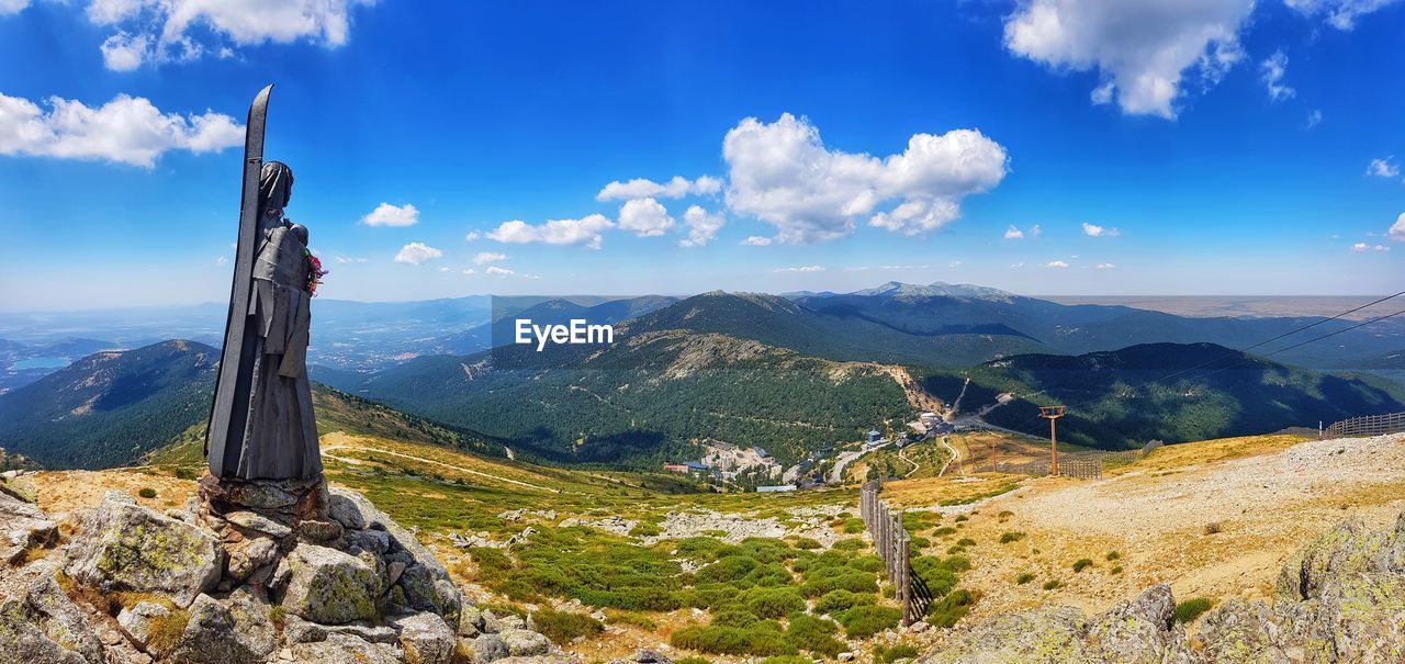
[[[1047,606],[960,628],[936,663],[1290,664],[1405,661],[1405,514],[1390,531],[1346,521],[1291,556],[1274,602],[1231,599],[1194,640],[1173,620],[1176,601],[1154,585],[1089,620]]]

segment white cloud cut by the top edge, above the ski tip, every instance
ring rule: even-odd
[[[0,11],[14,3],[0,0]],[[375,0],[91,0],[87,18],[117,29],[103,42],[103,60],[129,72],[143,63],[228,58],[233,46],[266,42],[336,48],[347,42],[351,7],[370,4]]]

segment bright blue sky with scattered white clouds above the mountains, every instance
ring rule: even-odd
[[[332,298],[1405,275],[1405,1],[205,4],[0,0],[0,310],[223,298],[268,81]]]

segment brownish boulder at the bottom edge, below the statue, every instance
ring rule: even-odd
[[[270,606],[244,591],[218,601],[200,595],[171,658],[190,664],[257,664],[278,646]]]

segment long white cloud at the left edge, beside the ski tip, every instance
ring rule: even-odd
[[[170,150],[219,152],[244,131],[229,115],[163,114],[142,97],[119,94],[98,108],[49,97],[48,109],[0,94],[0,154],[103,160],[150,168]]]

